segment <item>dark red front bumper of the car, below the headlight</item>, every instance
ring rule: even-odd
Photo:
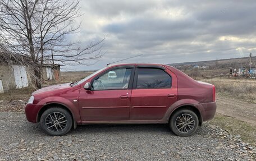
[[[43,104],[26,104],[25,113],[29,122],[37,122],[37,116]]]

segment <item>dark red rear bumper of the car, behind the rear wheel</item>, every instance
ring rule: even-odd
[[[199,103],[195,106],[196,108],[200,109],[203,121],[208,121],[212,119],[216,113],[216,102]]]

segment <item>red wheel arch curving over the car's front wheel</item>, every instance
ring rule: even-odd
[[[40,111],[38,112],[38,115],[37,115],[37,117],[36,117],[36,122],[38,123],[38,122],[40,122],[40,118],[41,118],[41,116],[42,116],[42,114],[44,113],[44,111],[46,111],[47,109],[49,109],[49,108],[52,108],[52,107],[60,107],[60,108],[62,108],[62,109],[65,109],[68,113],[70,113],[71,114],[71,117],[72,117],[72,120],[73,120],[73,125],[72,125],[72,127],[73,128],[76,128],[76,121],[75,121],[75,117],[74,117],[74,114],[72,113],[72,111],[68,108],[68,107],[66,107],[66,105],[63,105],[63,104],[60,104],[60,103],[49,103],[49,104],[45,104],[41,109],[40,109]]]

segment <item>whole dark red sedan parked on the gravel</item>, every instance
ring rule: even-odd
[[[52,136],[92,123],[168,123],[174,134],[190,136],[213,118],[215,88],[168,65],[110,65],[35,91],[25,112]]]

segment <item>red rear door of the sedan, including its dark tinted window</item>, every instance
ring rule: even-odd
[[[173,77],[176,76],[173,75]],[[177,100],[176,82],[161,67],[138,66],[131,94],[131,120],[160,120]]]

